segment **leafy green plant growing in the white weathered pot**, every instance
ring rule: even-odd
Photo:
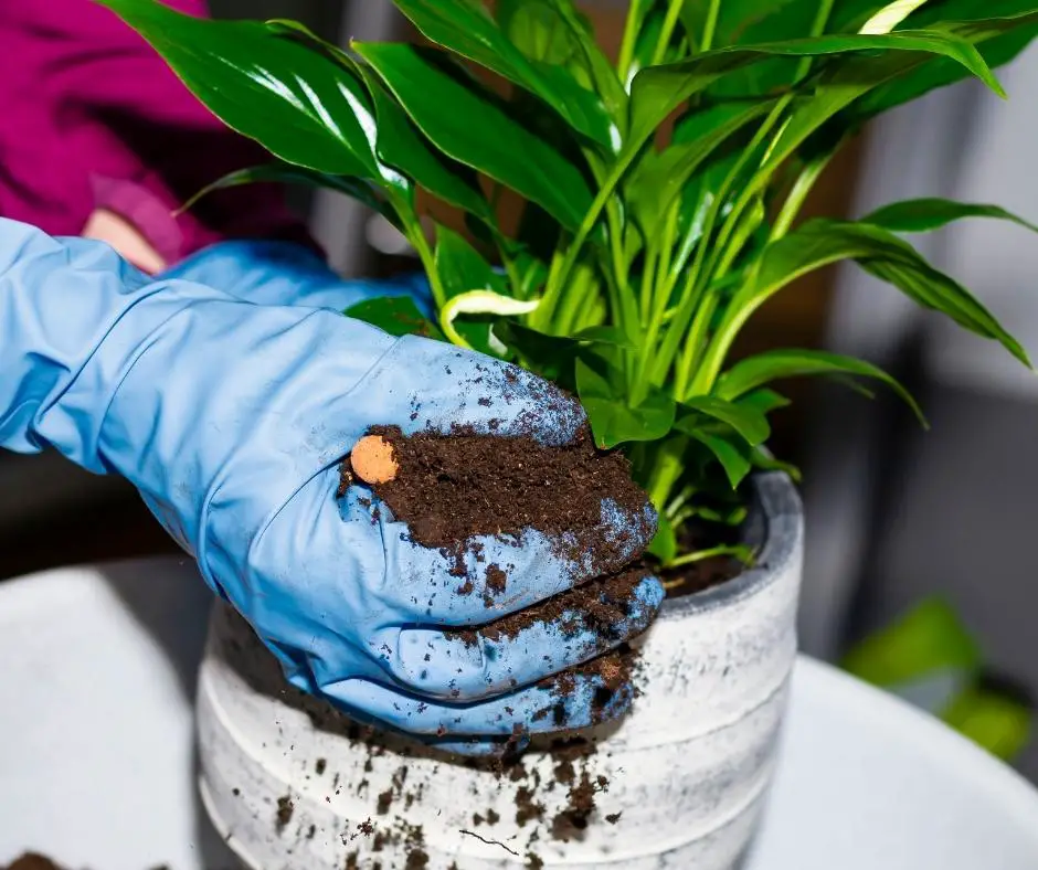
[[[769,414],[786,404],[772,381],[873,379],[919,412],[893,379],[846,357],[773,350],[729,364],[748,319],[796,278],[856,261],[1027,363],[966,288],[898,235],[1013,215],[925,200],[856,222],[797,216],[840,145],[879,113],[967,76],[1000,94],[991,70],[1038,34],[1035,0],[633,0],[615,63],[572,0],[498,0],[492,12],[393,0],[431,45],[349,51],[294,22],[100,1],[276,158],[213,187],[333,188],[407,237],[437,322],[400,300],[351,316],[578,392],[597,444],[623,446],[659,509],[652,551],[665,566],[703,555],[682,538],[691,520],[741,522],[738,487],[752,469],[786,468],[764,449]],[[467,236],[435,223],[427,235],[420,189],[464,212]],[[515,231],[498,221],[504,189],[526,202]]]

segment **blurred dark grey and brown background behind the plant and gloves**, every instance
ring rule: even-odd
[[[345,43],[407,38],[389,3],[212,0],[219,17],[292,17]],[[585,4],[602,40],[618,41],[623,0]],[[1000,72],[999,102],[965,83],[885,116],[834,161],[811,214],[857,216],[894,201],[946,197],[998,203],[1038,222],[1038,51]],[[293,192],[347,275],[416,266],[401,238],[351,201]],[[963,222],[913,240],[962,279],[1038,357],[1038,237],[1004,222]],[[997,347],[947,328],[854,267],[780,294],[741,351],[818,347],[860,356],[920,399],[924,432],[896,400],[819,383],[784,389],[774,447],[805,475],[808,551],[804,650],[838,661],[921,601],[946,601],[982,650],[985,679],[1038,697],[1038,382]],[[60,457],[0,453],[0,579],[85,561],[176,552],[127,485]],[[919,687],[917,687],[919,688]],[[932,687],[931,687],[932,688]],[[1014,753],[1038,782],[1038,746]]]

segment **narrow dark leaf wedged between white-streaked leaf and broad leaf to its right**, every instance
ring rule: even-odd
[[[369,73],[368,79],[378,116],[379,157],[444,202],[494,225],[494,212],[479,190],[475,172],[430,148],[406,113],[374,75]]]

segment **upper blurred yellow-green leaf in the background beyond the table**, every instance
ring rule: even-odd
[[[975,676],[981,650],[951,605],[928,598],[854,647],[843,667],[873,686],[892,688],[934,671]]]

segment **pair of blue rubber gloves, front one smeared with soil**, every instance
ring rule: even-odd
[[[623,712],[629,691],[594,709],[600,677],[563,694],[550,679],[603,651],[565,616],[475,645],[449,630],[618,564],[560,555],[528,530],[518,548],[480,539],[485,560],[468,560],[459,580],[377,499],[357,487],[336,498],[338,463],[370,425],[489,434],[492,417],[497,435],[562,445],[584,423],[580,407],[515,367],[324,307],[384,287],[339,282],[301,250],[236,250],[218,245],[149,279],[104,244],[0,220],[0,445],[51,445],[127,477],[288,679],[361,721],[484,752],[513,732]],[[282,265],[268,265],[272,251]],[[477,401],[488,392],[501,400],[492,407]],[[621,558],[648,531],[645,517],[603,503],[596,532]],[[488,614],[480,593],[495,563],[510,566],[513,594]],[[476,594],[457,594],[466,580]],[[658,581],[642,581],[606,645],[642,630],[661,598]]]

